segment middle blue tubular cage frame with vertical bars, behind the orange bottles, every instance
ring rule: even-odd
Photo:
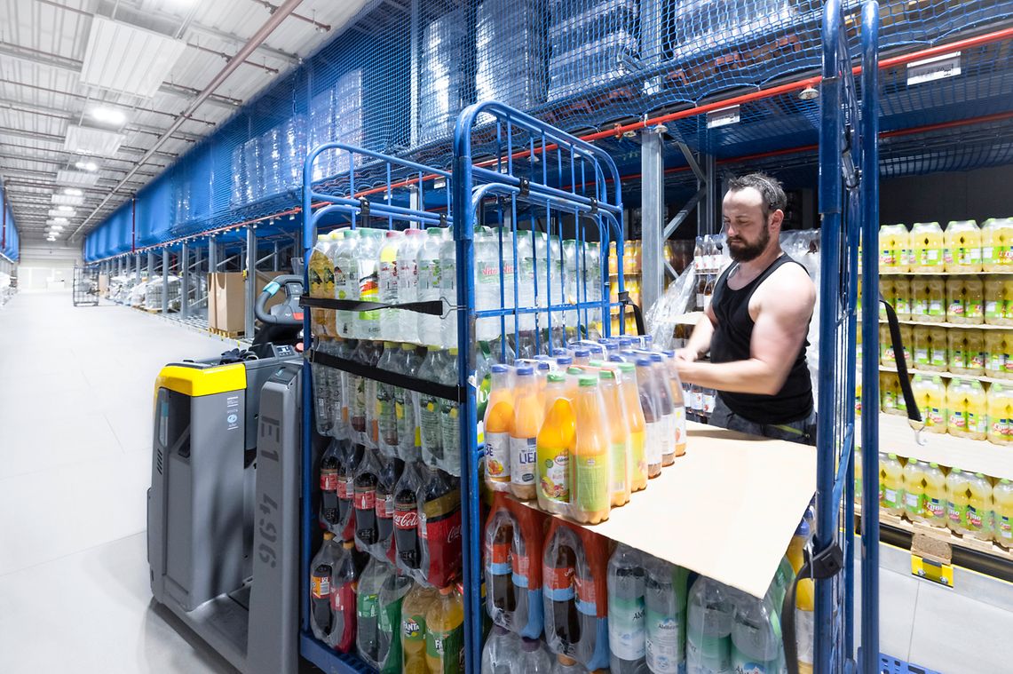
[[[489,161],[475,162],[472,155],[472,133],[476,126],[479,115],[491,116],[495,122],[496,157]],[[489,126],[482,123],[483,129]],[[515,134],[523,132],[530,136],[527,141],[517,141]],[[518,149],[520,148],[520,149]],[[567,159],[564,160],[564,153]],[[531,178],[521,177],[516,174],[515,158],[541,156],[541,176],[535,175],[532,165]],[[570,192],[551,186],[548,184],[550,177],[550,159],[555,160],[556,175],[552,177],[568,177]],[[564,161],[568,161],[568,171],[564,171]],[[579,165],[578,165],[579,164]],[[594,182],[590,178],[585,178],[588,164],[594,171]],[[487,166],[491,166],[487,167]],[[619,268],[619,291],[625,289],[622,278],[622,255],[623,255],[623,228],[622,228],[622,197],[620,195],[621,182],[619,171],[615,162],[607,153],[589,143],[554,129],[533,117],[513,109],[496,101],[482,101],[465,108],[458,118],[454,130],[454,188],[452,195],[452,213],[457,226],[454,227],[454,238],[457,242],[457,303],[458,303],[458,383],[467,394],[465,414],[461,416],[461,499],[465,507],[463,508],[463,534],[468,545],[464,555],[464,581],[465,587],[473,588],[473,591],[465,595],[465,654],[466,671],[477,672],[480,668],[482,652],[482,611],[481,597],[477,588],[481,587],[481,522],[479,519],[479,453],[476,438],[477,418],[475,404],[476,363],[475,363],[475,320],[483,317],[500,318],[500,328],[504,336],[506,330],[506,317],[514,316],[515,335],[520,331],[520,316],[522,314],[536,313],[544,314],[549,327],[549,349],[552,347],[552,316],[561,315],[564,310],[575,311],[578,314],[578,328],[581,324],[579,312],[583,311],[587,324],[587,312],[592,309],[601,309],[603,329],[606,334],[610,331],[609,309],[616,306],[609,302],[608,287],[608,265],[601,265],[602,268],[602,300],[588,301],[587,284],[577,277],[577,297],[582,301],[576,304],[553,304],[552,295],[552,210],[573,214],[577,219],[591,218],[599,226],[600,241],[602,246],[602,260],[608,259],[609,241],[616,242],[616,256]],[[577,173],[579,169],[579,174]],[[606,175],[608,173],[608,175]],[[608,192],[606,177],[613,180],[615,186],[614,194]],[[587,182],[582,182],[587,180]],[[559,179],[559,184],[563,183]],[[594,196],[585,194],[585,189],[589,183],[594,185]],[[475,261],[474,261],[474,228],[478,214],[481,213],[482,201],[487,196],[505,196],[511,200],[511,222],[517,223],[518,201],[528,204],[538,204],[544,206],[546,211],[547,229],[549,239],[546,241],[546,259],[548,266],[546,270],[546,296],[549,297],[547,306],[538,307],[518,307],[519,288],[517,274],[514,276],[514,307],[502,308],[505,299],[506,289],[500,281],[500,308],[490,310],[475,310]],[[501,209],[501,207],[500,207]],[[603,226],[604,222],[604,226]],[[558,234],[561,234],[561,226]],[[576,226],[578,240],[582,243],[581,235],[583,227]],[[612,236],[610,236],[612,235]],[[534,236],[534,234],[533,234]],[[517,236],[512,236],[515,259],[517,259]],[[502,247],[500,246],[500,250]],[[533,245],[533,251],[535,250]],[[581,251],[583,246],[581,246]],[[561,236],[559,253],[562,255]],[[578,259],[582,259],[580,254]],[[500,266],[502,259],[499,260]],[[539,265],[542,260],[535,255],[535,285],[539,282]],[[586,263],[585,263],[586,266]],[[585,267],[578,267],[582,272]],[[560,279],[560,282],[562,280]],[[582,286],[582,288],[581,288]],[[582,290],[582,293],[581,293]],[[620,321],[621,329],[622,321]],[[539,326],[541,327],[541,326]],[[536,331],[537,333],[537,331]],[[504,340],[505,341],[505,340]]]

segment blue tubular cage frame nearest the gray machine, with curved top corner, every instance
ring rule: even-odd
[[[326,151],[338,150],[348,153],[348,169],[342,171],[339,177],[347,177],[347,190],[352,197],[341,197],[329,195],[313,190],[313,163],[316,158]],[[393,228],[394,222],[413,222],[422,226],[426,225],[448,225],[450,219],[441,214],[431,213],[424,210],[407,209],[394,206],[392,201],[392,170],[399,173],[410,172],[417,179],[420,185],[423,176],[437,175],[446,178],[446,190],[448,196],[451,191],[451,175],[449,172],[417,164],[411,161],[398,159],[379,152],[365,150],[343,143],[325,143],[320,145],[306,156],[303,163],[303,213],[311,214],[303,218],[303,287],[309,288],[309,268],[310,256],[313,254],[313,246],[316,243],[317,223],[328,215],[345,215],[352,221],[352,228],[358,226],[358,218],[363,211],[363,200],[354,199],[356,194],[356,157],[358,155],[368,157],[373,160],[372,167],[375,169],[377,162],[385,164],[387,175],[387,188],[383,192],[384,201],[370,202],[369,212],[371,217],[386,218],[388,229]],[[369,191],[379,194],[376,191]],[[324,202],[326,205],[313,210],[314,202]],[[419,199],[421,203],[421,199]],[[420,204],[423,208],[424,205]],[[304,351],[309,352],[313,346],[313,333],[311,329],[310,311],[303,312],[303,345]],[[300,631],[299,631],[299,654],[309,660],[325,672],[372,672],[372,668],[363,663],[354,655],[342,655],[333,649],[318,642],[310,629],[310,606],[305,600],[309,596],[309,567],[313,555],[312,532],[316,527],[316,514],[313,511],[313,436],[314,429],[314,400],[313,400],[313,373],[312,368],[303,367],[303,469],[302,469],[302,513],[301,513],[301,559],[300,559]],[[474,413],[472,413],[474,416]],[[463,482],[463,480],[462,480]],[[463,498],[463,492],[462,492]],[[463,544],[463,543],[462,543]],[[467,546],[465,553],[467,553]],[[470,671],[470,670],[469,670]]]

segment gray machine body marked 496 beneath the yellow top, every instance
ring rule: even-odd
[[[152,594],[247,674],[298,671],[301,361],[292,355],[277,348],[244,363],[245,391],[162,388],[155,403]]]

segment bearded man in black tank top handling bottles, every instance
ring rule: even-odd
[[[710,424],[814,444],[805,363],[815,287],[781,250],[784,190],[763,173],[733,178],[722,203],[732,264],[677,354],[684,382],[717,389]],[[710,351],[710,363],[698,362]]]

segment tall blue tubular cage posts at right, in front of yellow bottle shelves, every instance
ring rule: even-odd
[[[862,12],[863,87],[862,113],[852,73],[852,60],[841,0],[824,8],[824,63],[821,83],[820,211],[822,273],[820,279],[820,386],[816,429],[816,529],[815,553],[841,548],[841,575],[816,579],[815,643],[813,670],[853,671],[854,654],[854,445],[856,303],[858,298],[858,246],[864,233],[863,275],[867,293],[878,288],[875,264],[878,225],[878,155],[875,151],[877,88],[876,59],[878,4],[864,3]],[[871,147],[865,147],[866,143]],[[862,170],[859,170],[861,167]],[[878,312],[866,303],[862,320],[864,349],[874,354]],[[872,307],[871,309],[869,307]],[[875,359],[863,361],[862,446],[866,474],[875,475],[878,407],[878,371]],[[871,468],[869,467],[871,466]],[[863,481],[863,503],[877,504],[875,479]],[[878,670],[878,517],[871,514],[871,529],[863,518],[862,552],[862,667]],[[844,521],[839,521],[843,513]],[[864,514],[864,513],[863,513]],[[874,541],[874,542],[873,542]],[[871,663],[871,664],[870,664]]]

